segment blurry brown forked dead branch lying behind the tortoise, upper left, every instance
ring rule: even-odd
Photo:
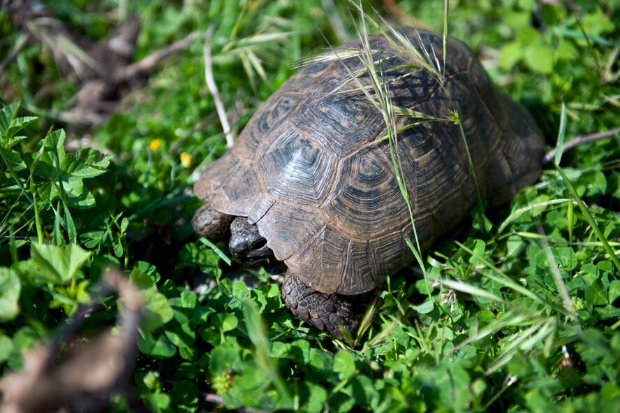
[[[68,125],[85,129],[106,122],[125,96],[146,84],[156,64],[200,37],[192,33],[133,62],[140,33],[140,21],[135,15],[110,30],[106,38],[94,42],[73,33],[45,6],[31,0],[0,0],[0,6],[8,20],[24,33],[12,54],[0,64],[0,73],[28,41],[37,41],[50,50],[61,72],[77,82],[77,92],[69,99],[70,103],[54,115]]]

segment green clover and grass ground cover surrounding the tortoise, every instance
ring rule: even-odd
[[[535,115],[550,151],[596,139],[550,152],[540,180],[509,205],[474,210],[391,275],[367,297],[375,315],[356,347],[291,317],[265,269],[231,262],[189,220],[200,168],[295,62],[363,27],[358,3],[45,6],[94,40],[136,13],[136,60],[194,31],[202,38],[159,64],[105,124],[84,129],[61,116],[77,80],[0,10],[2,370],[22,370],[27,350],[67,320],[80,319],[84,338],[114,326],[123,305],[100,291],[114,266],[144,304],[115,410],[618,410],[616,3],[451,1],[448,14],[443,2],[362,3],[377,22],[373,6],[388,21],[447,27],[465,41]]]

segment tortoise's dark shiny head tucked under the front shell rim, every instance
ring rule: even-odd
[[[230,224],[230,254],[240,261],[261,263],[274,259],[274,252],[267,247],[267,240],[260,235],[256,225],[249,224],[246,217],[237,217]]]

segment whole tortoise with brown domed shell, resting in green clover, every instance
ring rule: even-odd
[[[443,61],[441,35],[404,33],[414,48]],[[369,45],[394,107],[443,119],[396,119],[394,153],[422,249],[468,216],[478,202],[476,181],[480,196],[498,205],[538,179],[540,129],[493,85],[465,45],[448,41],[443,82],[417,67],[398,40],[376,34]],[[411,263],[406,238],[414,233],[386,124],[351,82],[357,73],[369,85],[369,73],[360,71],[358,57],[325,60],[286,81],[234,147],[202,171],[194,191],[207,202],[192,224],[214,240],[230,233],[233,256],[283,261],[284,303],[312,326],[343,338],[360,322],[344,296],[376,289]],[[445,120],[450,110],[459,115],[471,162],[459,125]]]

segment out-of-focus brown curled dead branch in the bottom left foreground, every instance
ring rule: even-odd
[[[138,354],[142,298],[117,270],[104,273],[99,297],[117,291],[122,303],[118,331],[111,328],[89,340],[75,337],[98,305],[80,305],[57,338],[24,354],[24,369],[0,381],[0,412],[92,412],[105,410],[112,393],[128,395],[128,381]],[[96,300],[95,300],[96,301]]]

